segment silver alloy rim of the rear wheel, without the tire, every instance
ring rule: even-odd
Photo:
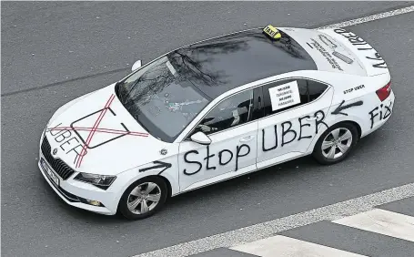
[[[338,159],[346,154],[352,144],[352,133],[348,128],[336,128],[322,141],[322,154],[327,159]]]

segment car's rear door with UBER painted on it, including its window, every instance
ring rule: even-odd
[[[289,78],[261,87],[265,118],[258,121],[257,168],[298,157],[324,122],[332,101],[333,87],[316,80]]]

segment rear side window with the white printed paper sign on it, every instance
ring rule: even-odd
[[[263,86],[265,116],[307,104],[317,99],[327,85],[303,78],[282,80]]]

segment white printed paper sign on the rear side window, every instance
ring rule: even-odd
[[[292,81],[278,87],[268,88],[272,110],[287,108],[300,103],[298,82]]]

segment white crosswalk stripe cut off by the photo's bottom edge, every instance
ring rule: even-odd
[[[289,238],[282,235],[269,237],[258,240],[256,242],[248,242],[246,244],[231,247],[231,250],[238,252],[246,252],[261,257],[362,257],[354,252],[346,252],[320,245],[313,242],[300,241],[298,239]]]

